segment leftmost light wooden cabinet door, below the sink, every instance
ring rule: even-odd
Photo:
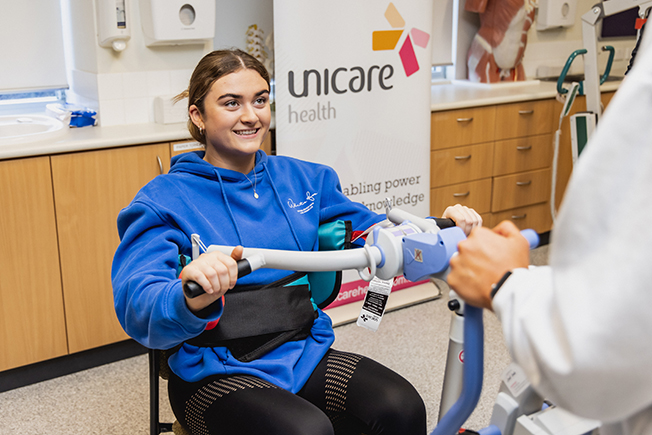
[[[68,353],[48,157],[0,162],[0,371]]]

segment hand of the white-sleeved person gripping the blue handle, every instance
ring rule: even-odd
[[[530,245],[510,221],[493,230],[474,229],[457,248],[447,281],[462,299],[476,307],[492,309],[491,286],[505,272],[530,263]]]

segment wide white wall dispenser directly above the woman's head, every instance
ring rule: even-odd
[[[215,36],[215,0],[140,0],[145,44],[203,44]]]

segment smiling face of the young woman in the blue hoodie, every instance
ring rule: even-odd
[[[205,130],[206,161],[247,173],[271,121],[269,87],[252,69],[216,80],[204,98],[204,113],[190,106],[190,117]]]

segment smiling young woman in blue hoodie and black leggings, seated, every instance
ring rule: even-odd
[[[331,168],[259,149],[269,76],[253,57],[208,54],[187,95],[190,133],[206,151],[175,157],[122,210],[112,270],[125,331],[176,350],[168,385],[179,422],[193,434],[425,434],[425,406],[409,382],[331,349],[331,321],[310,302],[304,277],[261,269],[237,279],[236,248],[202,254],[177,278],[192,234],[207,245],[312,251],[323,223],[364,230],[384,218],[344,196]],[[481,223],[461,206],[445,214],[468,230]],[[189,280],[206,293],[188,299]],[[288,319],[298,322],[290,333],[279,326]]]

